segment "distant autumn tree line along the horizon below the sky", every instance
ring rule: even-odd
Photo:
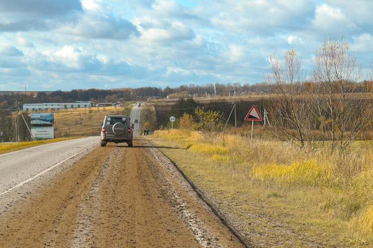
[[[369,92],[371,81],[349,82],[354,92]],[[311,81],[299,83],[298,93],[309,93]],[[209,83],[205,85],[181,85],[164,89],[159,87],[118,88],[118,89],[73,89],[71,91],[0,91],[0,111],[13,107],[16,100],[19,106],[24,103],[63,103],[75,101],[91,101],[94,103],[126,102],[136,100],[137,97],[145,98],[195,98],[213,96],[238,96],[252,94],[271,94],[276,92],[274,85],[267,82],[255,84],[240,83]]]

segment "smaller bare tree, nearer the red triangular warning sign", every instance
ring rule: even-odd
[[[270,62],[272,73],[266,74],[265,78],[276,96],[270,110],[272,131],[279,139],[292,141],[303,147],[307,139],[306,126],[309,119],[306,118],[306,99],[297,97],[304,78],[301,58],[294,49],[290,49],[286,51],[282,61],[272,55]]]

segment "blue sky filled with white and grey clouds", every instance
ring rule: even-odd
[[[372,71],[372,0],[0,0],[0,91],[254,84],[324,40]]]

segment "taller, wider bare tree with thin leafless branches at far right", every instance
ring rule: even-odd
[[[333,151],[340,151],[356,139],[367,121],[364,115],[368,106],[366,95],[353,95],[354,83],[361,75],[356,57],[349,52],[347,42],[324,41],[316,50],[313,79],[315,112],[318,113],[323,140],[330,141]]]

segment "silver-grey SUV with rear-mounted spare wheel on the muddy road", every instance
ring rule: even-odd
[[[132,143],[132,126],[128,116],[105,116],[101,129],[101,146],[107,142],[123,143],[129,147]]]

